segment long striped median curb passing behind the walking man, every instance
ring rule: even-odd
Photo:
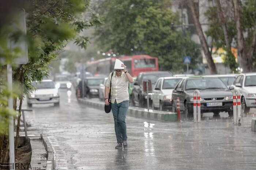
[[[95,101],[91,101],[88,99],[78,99],[79,102],[89,105],[93,108],[102,108],[104,110],[104,103],[98,103]],[[145,108],[137,108],[137,107],[129,107],[128,116],[135,118],[146,118],[151,120],[161,120],[161,121],[169,121],[176,122],[177,121],[177,113],[167,112],[167,111],[157,111],[157,110],[149,110]]]

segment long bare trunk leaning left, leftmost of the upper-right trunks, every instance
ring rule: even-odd
[[[192,18],[193,18],[193,22],[194,22],[195,27],[196,27],[197,35],[199,36],[200,43],[203,47],[204,55],[206,56],[208,67],[210,68],[210,73],[211,74],[217,74],[217,69],[216,69],[215,63],[213,62],[211,52],[209,51],[208,44],[207,44],[206,39],[204,37],[204,33],[203,33],[203,30],[202,30],[199,18],[196,14],[194,2],[193,2],[193,0],[187,0],[187,3],[188,3],[189,9],[190,9],[191,14],[192,14]]]

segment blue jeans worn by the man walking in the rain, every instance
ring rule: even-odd
[[[125,100],[121,103],[116,103],[115,101],[111,104],[111,107],[114,117],[116,140],[117,143],[121,143],[127,140],[125,118],[129,107],[129,100]]]

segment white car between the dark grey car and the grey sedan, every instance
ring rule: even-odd
[[[152,94],[153,109],[172,107],[172,91],[176,84],[184,77],[161,77],[157,80]]]

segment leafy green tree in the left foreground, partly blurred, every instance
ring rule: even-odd
[[[5,3],[8,4],[8,1]],[[12,4],[10,3],[9,11],[4,11],[7,16],[10,16]],[[22,35],[19,32],[11,32],[9,28],[10,23],[8,20],[0,22],[0,55],[5,58],[5,63],[1,63],[1,70],[5,70],[5,64],[12,63],[13,59],[10,58],[10,49],[7,48],[6,42],[8,39],[19,40],[23,38],[27,41],[29,52],[29,63],[21,65],[14,69],[13,79],[19,84],[19,108],[22,106],[22,99],[24,94],[29,91],[35,90],[31,85],[32,82],[41,82],[49,73],[49,63],[52,62],[56,56],[63,50],[69,40],[74,40],[75,43],[81,48],[86,48],[88,37],[80,36],[83,29],[100,24],[98,15],[92,10],[88,10],[90,5],[89,0],[45,0],[37,1],[30,0],[29,3],[18,3],[16,8],[24,8],[27,12],[27,35]],[[8,6],[8,5],[7,5]],[[85,19],[83,16],[84,11],[90,11],[90,16]],[[1,13],[2,14],[2,13]],[[1,15],[2,16],[2,15]],[[10,35],[10,36],[9,36]],[[1,78],[2,78],[1,74]],[[5,88],[6,85],[1,81],[0,85]],[[4,100],[1,104],[0,121],[5,121],[6,114],[2,112],[6,108],[6,94],[4,88],[1,88],[0,99]],[[2,90],[3,89],[3,90]],[[17,95],[14,98],[14,110],[16,110]],[[5,109],[6,110],[6,109]],[[20,110],[18,117],[18,124],[20,119]],[[8,122],[8,120],[7,120]],[[1,124],[0,124],[1,126]],[[0,128],[1,130],[1,128]],[[0,147],[1,155],[0,162],[7,162],[8,160],[8,138],[6,137],[8,130],[6,127],[0,131]],[[5,133],[4,133],[5,132]],[[19,136],[19,129],[17,129],[17,136]],[[16,141],[16,148],[18,142]]]

